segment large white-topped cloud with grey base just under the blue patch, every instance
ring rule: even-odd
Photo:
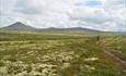
[[[112,21],[111,15],[103,9],[83,8],[73,9],[70,11],[71,20],[80,20],[89,23],[101,24],[107,21]]]

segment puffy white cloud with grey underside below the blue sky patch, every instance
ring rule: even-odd
[[[95,23],[95,24],[102,24],[104,22],[110,22],[110,21],[113,21],[113,18],[102,12],[102,11],[98,11],[98,10],[94,10],[93,12],[88,12],[88,10],[84,10],[84,9],[81,9],[81,10],[76,10],[73,11],[73,13],[69,13],[69,18],[71,21],[83,21],[83,22],[88,22],[88,23]],[[78,12],[78,13],[75,13],[75,12]]]

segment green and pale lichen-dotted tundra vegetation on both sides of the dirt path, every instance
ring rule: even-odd
[[[126,36],[104,36],[101,42],[126,55]],[[125,76],[102,50],[88,35],[0,33],[0,75]]]

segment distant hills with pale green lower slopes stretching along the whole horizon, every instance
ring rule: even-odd
[[[90,28],[82,28],[82,27],[71,27],[71,28],[35,28],[28,25],[25,25],[21,22],[13,23],[9,26],[0,28],[0,31],[8,31],[8,33],[53,33],[53,34],[88,34],[88,35],[126,35],[124,31],[101,31]]]

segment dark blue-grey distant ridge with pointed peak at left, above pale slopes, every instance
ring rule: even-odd
[[[9,29],[9,30],[37,30],[37,31],[43,31],[43,30],[85,30],[85,31],[100,31],[100,30],[94,30],[94,29],[89,29],[89,28],[82,28],[82,27],[70,27],[70,28],[35,28],[32,26],[27,26],[21,22],[16,22],[14,24],[11,24],[7,27],[2,27],[1,29]]]

